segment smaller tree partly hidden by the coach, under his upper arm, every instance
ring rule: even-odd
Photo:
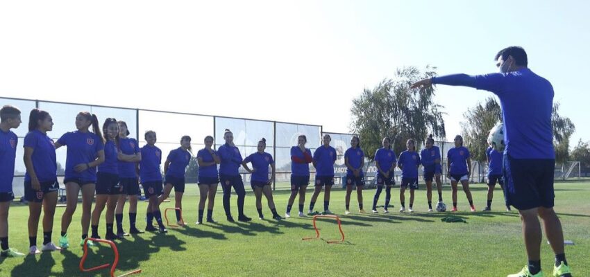
[[[480,163],[486,161],[487,136],[489,130],[502,121],[502,109],[496,99],[489,97],[484,104],[478,103],[463,114],[465,121],[461,123],[463,140],[471,159]]]

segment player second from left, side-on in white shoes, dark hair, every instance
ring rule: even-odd
[[[53,119],[47,111],[31,110],[28,117],[28,133],[24,137],[24,198],[28,202],[29,253],[39,254],[37,230],[43,209],[42,251],[61,250],[51,242],[53,216],[58,203],[56,147],[47,132],[53,129]]]

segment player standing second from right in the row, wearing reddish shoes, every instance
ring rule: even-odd
[[[454,141],[455,148],[451,148],[446,154],[447,177],[450,178],[450,187],[453,190],[453,209],[450,211],[457,211],[457,184],[461,183],[463,191],[469,201],[469,207],[472,212],[475,212],[471,190],[469,190],[469,179],[471,179],[471,154],[469,153],[469,150],[463,146],[462,136],[455,136]]]

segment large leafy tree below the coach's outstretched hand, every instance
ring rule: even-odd
[[[436,75],[436,68],[421,72],[415,67],[397,69],[393,79],[382,80],[373,89],[364,89],[353,100],[351,130],[359,134],[366,157],[373,159],[384,137],[389,137],[396,153],[405,150],[405,141],[415,139],[416,146],[428,134],[444,137],[444,107],[432,100],[432,88],[412,90],[410,85]]]

